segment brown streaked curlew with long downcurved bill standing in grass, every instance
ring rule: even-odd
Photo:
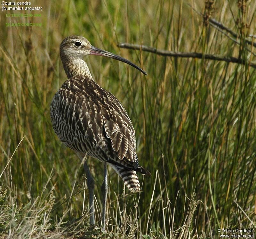
[[[148,176],[151,174],[139,165],[135,131],[124,106],[113,94],[94,81],[88,65],[83,60],[83,57],[88,55],[113,58],[133,66],[145,75],[147,73],[121,56],[93,47],[83,36],[68,36],[60,44],[60,59],[68,80],[52,99],[52,126],[60,141],[75,151],[84,163],[90,225],[95,224],[95,183],[86,157],[91,156],[104,163],[101,230],[106,232],[108,165],[123,179],[125,186],[132,193],[140,191],[136,173]]]

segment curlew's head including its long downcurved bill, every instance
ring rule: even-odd
[[[87,55],[106,56],[112,59],[116,59],[118,61],[122,61],[126,64],[133,66],[137,70],[141,71],[143,74],[147,75],[147,73],[143,71],[139,66],[124,59],[123,57],[117,56],[108,51],[101,50],[97,47],[93,47],[91,43],[83,36],[68,36],[60,44],[60,56],[66,56],[68,58],[83,58]]]

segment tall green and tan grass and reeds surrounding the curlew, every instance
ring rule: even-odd
[[[31,6],[43,7],[41,17],[0,14],[0,238],[219,238],[219,228],[254,234],[256,74],[248,62],[256,59],[248,41],[255,41],[256,1],[37,0]],[[212,26],[211,18],[237,36]],[[152,173],[140,175],[142,191],[130,195],[108,169],[107,235],[88,226],[83,167],[50,120],[52,97],[67,79],[59,45],[71,34],[148,72],[85,58],[95,81],[126,108],[140,164]],[[245,64],[157,56],[120,49],[120,42],[234,56]],[[88,162],[100,220],[103,164]]]

